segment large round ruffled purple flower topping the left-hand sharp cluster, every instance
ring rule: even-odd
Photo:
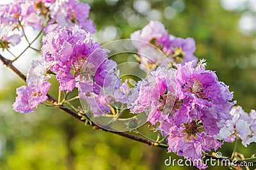
[[[94,80],[97,85],[109,86],[116,63],[107,60],[108,50],[92,39],[92,34],[75,27],[58,27],[42,41],[42,57],[52,62],[51,71],[56,73],[60,90],[71,92],[79,79]],[[82,76],[80,76],[82,73]],[[83,77],[84,75],[84,77]]]

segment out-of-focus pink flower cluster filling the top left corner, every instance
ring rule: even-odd
[[[21,27],[47,33],[58,26],[79,25],[86,32],[93,33],[95,26],[88,19],[89,11],[88,4],[76,0],[18,0],[0,5],[1,48],[20,43],[24,36]]]

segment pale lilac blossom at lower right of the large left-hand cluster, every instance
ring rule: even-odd
[[[102,62],[93,77],[88,76],[88,71],[82,71],[77,85],[79,96],[90,105],[94,117],[110,113],[113,103],[127,103],[128,100],[129,85],[127,80],[124,83],[120,80],[113,60]]]

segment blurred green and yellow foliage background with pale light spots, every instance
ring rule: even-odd
[[[246,111],[256,108],[256,4],[253,0],[84,2],[91,6],[90,18],[97,26],[94,36],[102,44],[129,38],[149,20],[161,20],[174,36],[195,38],[195,55],[206,59],[207,69],[216,71],[219,80],[230,85],[237,105]],[[1,74],[8,77],[12,72]],[[35,113],[15,113],[12,104],[15,89],[20,85],[24,82],[17,78],[0,89],[0,169],[196,169],[166,167],[164,160],[169,156],[177,158],[175,154],[93,130],[57,108],[40,105]],[[51,88],[53,96],[57,95],[54,90],[57,86]],[[147,125],[141,131],[148,136],[155,135]],[[225,143],[218,151],[230,156],[233,148],[234,144]],[[255,143],[248,148],[239,143],[237,151],[250,157],[255,148]]]

